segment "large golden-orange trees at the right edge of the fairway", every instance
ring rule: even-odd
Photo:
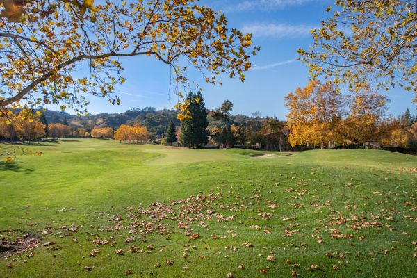
[[[403,147],[416,145],[415,116],[386,116],[386,96],[362,85],[345,97],[330,82],[311,81],[285,99],[293,147]],[[412,126],[414,126],[412,128]]]

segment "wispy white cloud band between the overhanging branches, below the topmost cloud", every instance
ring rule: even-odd
[[[252,33],[257,38],[303,38],[310,35],[313,25],[252,24],[243,26],[243,33]]]

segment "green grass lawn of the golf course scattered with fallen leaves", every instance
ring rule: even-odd
[[[37,234],[41,243],[1,258],[0,277],[125,277],[128,269],[129,277],[227,277],[228,272],[291,277],[292,271],[300,277],[415,277],[417,272],[415,156],[357,149],[259,158],[250,156],[259,152],[245,149],[81,139],[26,148],[43,154],[20,154],[15,163],[0,165],[0,240],[16,237],[19,233],[7,231],[19,229]],[[170,203],[210,193],[200,202]],[[149,206],[156,217],[149,217]],[[139,236],[142,222],[169,232]],[[189,230],[179,229],[178,222]],[[79,231],[61,229],[72,225]],[[134,226],[136,239],[125,243]],[[51,234],[42,234],[47,227]],[[113,230],[105,231],[108,227]],[[193,240],[188,232],[200,236]],[[342,238],[334,238],[338,235]],[[96,247],[96,238],[117,245]],[[57,248],[42,246],[48,241]],[[156,248],[147,252],[149,244]],[[143,252],[129,252],[132,245]],[[233,246],[238,250],[226,249]],[[100,253],[90,257],[95,248]],[[115,254],[118,249],[124,254]],[[92,271],[85,271],[86,265]],[[311,265],[319,270],[306,270]]]

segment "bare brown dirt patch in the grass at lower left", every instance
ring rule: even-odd
[[[0,258],[21,254],[38,247],[40,239],[30,231],[0,231]]]

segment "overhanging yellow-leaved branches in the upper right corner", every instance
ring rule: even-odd
[[[299,49],[314,77],[361,89],[400,85],[417,94],[417,6],[415,0],[337,0],[333,16],[312,31],[311,49]],[[414,99],[417,101],[417,96]]]

